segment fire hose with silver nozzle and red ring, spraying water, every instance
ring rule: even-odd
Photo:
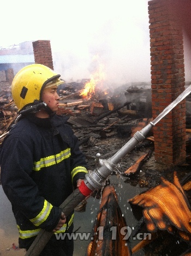
[[[155,126],[166,114],[172,110],[178,103],[180,103],[186,96],[191,92],[191,85],[180,94],[175,101],[167,106],[162,113],[158,115],[150,124],[145,126],[141,131],[137,131],[134,136],[108,160],[98,160],[99,168],[86,173],[85,179],[82,181],[79,188],[75,189],[73,193],[59,206],[62,208],[65,216],[68,216],[74,211],[74,208],[85,199],[86,196],[90,195],[92,191],[99,190],[103,187],[104,182],[110,176],[110,174],[117,167],[116,165],[125,155],[127,155],[138,143],[144,141],[146,135],[153,126]],[[31,247],[29,247],[25,256],[38,256],[45,247],[46,243],[50,240],[53,232],[40,230],[39,234],[33,241]]]

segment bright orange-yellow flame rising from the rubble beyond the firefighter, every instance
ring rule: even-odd
[[[90,81],[85,84],[85,88],[81,91],[82,97],[91,98],[105,80],[104,65],[100,63],[99,56],[95,55],[93,61],[96,62],[97,70],[90,75]]]

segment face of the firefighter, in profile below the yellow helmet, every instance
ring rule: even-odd
[[[59,102],[57,86],[52,86],[50,88],[44,89],[41,100],[43,100],[53,112],[56,112],[58,110]]]

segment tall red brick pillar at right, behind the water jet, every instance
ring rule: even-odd
[[[148,2],[153,118],[181,94],[185,85],[182,27],[176,15],[168,11],[170,5],[167,2]],[[153,130],[157,162],[173,166],[186,159],[185,100],[160,120]]]

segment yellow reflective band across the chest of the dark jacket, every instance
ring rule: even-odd
[[[56,155],[46,156],[46,158],[41,158],[40,161],[33,163],[33,171],[40,171],[43,167],[48,167],[51,165],[56,165],[62,162],[64,159],[69,158],[71,155],[70,148],[67,148]]]

